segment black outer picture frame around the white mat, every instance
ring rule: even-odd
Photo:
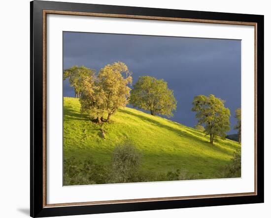
[[[153,16],[164,18],[202,19],[213,21],[252,22],[257,24],[257,194],[247,196],[193,198],[180,200],[160,200],[133,203],[114,203],[98,205],[77,205],[46,207],[44,205],[44,102],[43,102],[43,10],[92,12],[103,14]],[[264,202],[264,16],[233,14],[175,9],[158,9],[83,3],[67,3],[34,0],[30,2],[31,11],[31,217],[53,217],[97,213],[159,210],[174,208],[205,207],[218,205],[252,204]]]

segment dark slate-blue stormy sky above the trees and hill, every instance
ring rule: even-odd
[[[241,41],[224,39],[143,36],[104,33],[63,33],[63,67],[84,65],[99,71],[104,65],[124,62],[139,76],[153,76],[168,82],[177,100],[171,120],[195,126],[191,111],[196,95],[214,94],[226,100],[231,110],[231,131],[241,106]],[[64,96],[74,97],[73,88],[64,82]]]

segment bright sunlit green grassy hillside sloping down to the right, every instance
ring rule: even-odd
[[[109,165],[115,145],[129,138],[142,153],[145,172],[186,169],[199,178],[215,178],[240,147],[229,139],[211,145],[200,131],[130,108],[119,109],[110,123],[104,123],[105,139],[100,128],[80,113],[78,99],[64,98],[64,159],[92,156]]]

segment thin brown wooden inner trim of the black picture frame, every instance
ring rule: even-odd
[[[46,192],[46,173],[47,173],[46,172],[46,15],[47,14],[254,26],[254,192],[47,204],[46,203],[46,193],[47,193]],[[153,16],[125,15],[125,14],[106,14],[106,13],[93,13],[93,12],[74,12],[74,11],[60,11],[60,10],[43,10],[42,18],[43,18],[42,19],[42,36],[43,36],[43,39],[42,39],[42,45],[43,45],[42,46],[42,54],[43,54],[43,58],[42,58],[42,66],[43,66],[43,71],[42,71],[42,78],[43,78],[43,87],[42,87],[42,90],[43,90],[43,95],[42,95],[42,101],[43,101],[43,113],[42,113],[43,114],[43,131],[42,131],[43,132],[43,145],[42,145],[42,151],[43,151],[43,161],[42,161],[43,162],[43,196],[42,196],[42,205],[43,205],[43,208],[257,195],[257,23],[240,22],[240,21],[189,19],[189,18],[153,17]]]

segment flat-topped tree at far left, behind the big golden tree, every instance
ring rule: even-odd
[[[70,86],[74,87],[75,98],[79,98],[83,91],[84,81],[92,79],[95,75],[95,70],[89,69],[85,66],[72,66],[64,70],[63,80],[68,79]]]

